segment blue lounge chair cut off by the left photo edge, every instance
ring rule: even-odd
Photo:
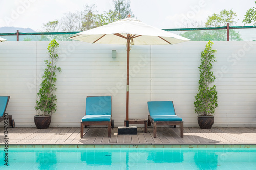
[[[12,119],[12,116],[8,115],[8,113],[5,112],[9,100],[10,100],[10,96],[0,96],[0,122],[4,120],[6,121],[9,118],[9,124],[12,126],[12,128],[14,128],[15,122]]]

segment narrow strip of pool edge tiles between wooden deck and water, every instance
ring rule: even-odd
[[[0,149],[4,149],[5,145],[0,144]],[[205,145],[205,144],[11,144],[8,145],[9,149],[12,148],[256,148],[256,144],[218,144],[218,145]]]

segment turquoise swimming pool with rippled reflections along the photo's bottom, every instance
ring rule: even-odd
[[[256,169],[255,145],[1,145],[0,157],[0,169]]]

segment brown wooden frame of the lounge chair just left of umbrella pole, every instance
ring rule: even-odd
[[[87,96],[87,98],[90,97],[109,97],[109,96]],[[112,103],[112,96],[110,96],[111,98],[111,103]],[[86,115],[86,112],[85,112]],[[111,114],[110,114],[110,121],[82,121],[81,120],[81,138],[83,138],[83,127],[86,128],[86,126],[89,125],[107,125],[108,126],[108,137],[111,136],[111,126],[112,128],[114,127],[114,121],[112,120],[112,108],[111,108]]]

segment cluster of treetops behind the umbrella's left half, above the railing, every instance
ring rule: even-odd
[[[44,24],[42,31],[86,31],[126,18],[129,14],[134,17],[130,9],[130,0],[113,0],[113,3],[114,10],[110,9],[103,14],[98,14],[95,4],[86,4],[81,11],[66,12],[60,20]]]

